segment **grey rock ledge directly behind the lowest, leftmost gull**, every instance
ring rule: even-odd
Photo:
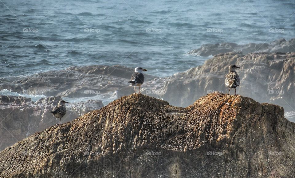
[[[60,96],[55,96],[34,103],[30,98],[0,95],[0,150],[56,124],[56,119],[48,111],[52,111],[60,100]],[[100,100],[70,103],[61,122],[69,122],[101,107],[103,103]]]

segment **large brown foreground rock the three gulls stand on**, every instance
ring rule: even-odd
[[[132,94],[6,148],[0,177],[292,177],[294,132],[282,107],[240,95]]]

